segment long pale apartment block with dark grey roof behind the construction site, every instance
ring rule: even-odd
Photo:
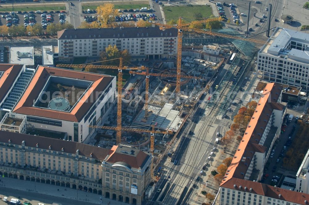
[[[65,29],[58,31],[59,61],[74,57],[98,57],[109,45],[128,50],[133,60],[175,58],[177,29],[120,27]]]

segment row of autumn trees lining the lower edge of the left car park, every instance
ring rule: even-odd
[[[44,31],[41,24],[36,23],[34,26],[24,27],[23,25],[7,27],[6,25],[0,26],[0,33],[2,36],[40,36],[44,32],[50,35],[57,34],[57,31],[61,31],[66,28],[74,28],[70,23],[51,23],[47,26],[46,31]]]

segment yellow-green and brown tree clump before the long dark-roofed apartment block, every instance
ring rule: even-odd
[[[112,60],[115,58],[123,58],[123,65],[126,65],[127,62],[130,62],[131,56],[129,54],[128,50],[119,51],[117,46],[114,45],[108,45],[108,47],[105,48],[105,51],[102,51],[100,53],[102,64],[104,65],[119,65],[119,59]]]

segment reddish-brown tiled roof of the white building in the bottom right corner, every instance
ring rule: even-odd
[[[236,185],[236,188],[234,188]],[[239,186],[241,188],[239,189]],[[291,203],[305,204],[305,200],[309,203],[309,194],[304,194],[301,192],[291,191],[287,189],[281,189],[278,187],[270,186],[268,184],[262,184],[259,182],[253,182],[244,179],[231,178],[227,182],[221,185],[223,188],[228,188],[232,190],[241,190],[248,193],[253,193],[257,195],[263,195],[266,197],[271,197],[273,199],[284,200]],[[246,190],[244,188],[246,187]],[[250,192],[250,188],[252,191]],[[280,195],[280,197],[279,197]]]

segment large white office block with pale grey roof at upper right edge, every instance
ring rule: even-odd
[[[257,56],[264,80],[309,90],[309,34],[277,28]]]

